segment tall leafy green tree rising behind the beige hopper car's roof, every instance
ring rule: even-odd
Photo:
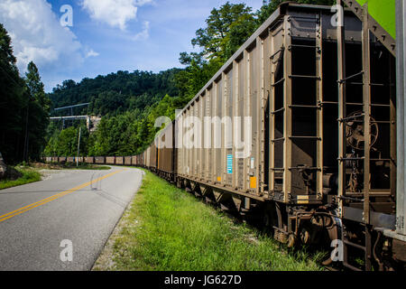
[[[202,51],[180,53],[180,63],[187,68],[175,76],[180,90],[179,105],[187,104],[257,27],[251,7],[229,2],[214,8],[206,23],[191,40]]]

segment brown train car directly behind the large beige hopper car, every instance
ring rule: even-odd
[[[169,182],[174,182],[175,165],[175,126],[174,122],[166,126],[155,138],[157,147],[157,174]]]

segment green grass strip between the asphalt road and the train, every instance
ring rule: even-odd
[[[271,238],[235,224],[221,211],[151,172],[146,172],[114,235],[107,256],[113,265],[100,267],[97,261],[94,269],[321,270],[305,252],[287,253]]]

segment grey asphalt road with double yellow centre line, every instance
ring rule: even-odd
[[[0,270],[90,270],[142,178],[122,167],[65,170],[1,190]]]

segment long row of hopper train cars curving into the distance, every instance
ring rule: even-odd
[[[403,270],[395,44],[347,5],[341,26],[331,7],[282,4],[143,154],[78,161],[147,168],[288,247],[334,248],[325,265]]]

